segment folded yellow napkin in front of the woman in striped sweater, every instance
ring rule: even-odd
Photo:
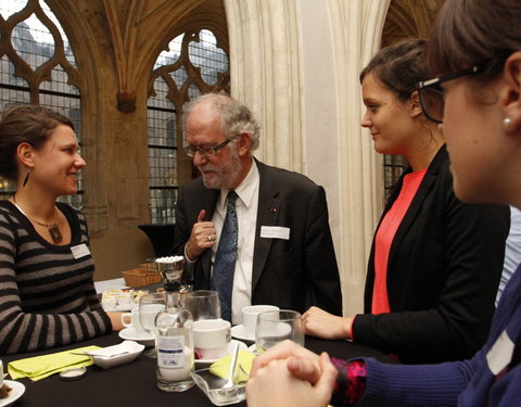
[[[94,351],[99,348],[100,346],[91,345],[49,355],[27,357],[11,361],[8,365],[8,371],[13,380],[29,378],[36,382],[62,370],[93,365],[94,361],[90,356],[73,355],[71,352]]]

